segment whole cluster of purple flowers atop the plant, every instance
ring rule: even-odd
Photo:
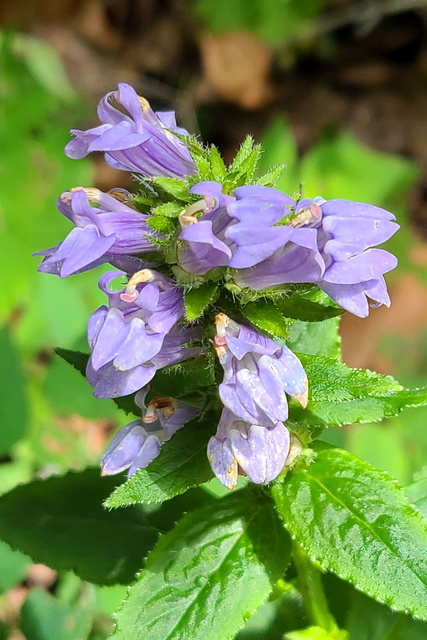
[[[295,199],[254,184],[249,173],[246,183],[244,174],[235,184],[231,178],[220,183],[206,169],[209,151],[190,143],[174,113],[154,112],[129,85],[107,94],[98,115],[100,126],[73,131],[67,155],[102,151],[112,167],[139,177],[143,197],[123,189],[65,191],[57,207],[73,228],[36,255],[43,256],[40,271],[62,278],[106,263],[118,269],[99,280],[107,304],[89,319],[86,375],[97,397],[136,394],[142,418],[116,435],[103,473],[129,469],[131,475],[147,466],[162,442],[203,411],[170,397],[146,406],[145,398],[159,370],[185,368],[196,356],[208,366],[208,351],[215,350],[223,382],[209,395],[210,406],[216,402],[221,411],[207,447],[212,469],[229,488],[239,474],[270,482],[289,456],[288,396],[305,407],[308,380],[288,347],[224,313],[230,313],[229,298],[221,284],[267,298],[290,285],[317,285],[338,306],[365,317],[370,305],[390,304],[384,274],[397,260],[377,245],[398,229],[394,216],[349,200]],[[179,204],[169,189],[177,184]],[[190,322],[188,287],[197,295],[208,281],[218,294],[202,305],[198,322]]]

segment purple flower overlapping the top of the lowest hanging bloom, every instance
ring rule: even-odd
[[[288,418],[286,394],[307,405],[307,376],[290,349],[224,313],[216,316],[216,328],[215,349],[224,369],[219,395],[238,419],[272,428]]]

